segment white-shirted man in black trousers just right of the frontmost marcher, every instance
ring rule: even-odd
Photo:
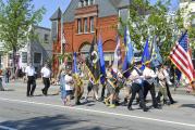
[[[158,102],[156,99],[156,91],[155,91],[155,78],[157,77],[157,75],[150,68],[149,63],[146,63],[145,65],[146,65],[146,67],[143,72],[144,99],[146,100],[147,93],[148,93],[148,91],[150,91],[151,99],[153,99],[153,106],[155,108],[159,108],[159,105],[158,105]]]

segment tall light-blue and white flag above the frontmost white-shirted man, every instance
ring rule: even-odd
[[[123,76],[127,78],[130,76],[130,65],[134,57],[134,51],[131,42],[130,30],[126,27],[124,32],[124,44],[126,44],[126,54],[124,57],[122,70],[123,70]]]

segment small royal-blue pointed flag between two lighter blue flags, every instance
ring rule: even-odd
[[[146,44],[144,47],[144,52],[143,52],[143,56],[142,56],[142,68],[141,69],[144,69],[145,68],[145,64],[147,62],[150,62],[150,53],[149,53],[149,43],[148,43],[148,39],[146,40]]]

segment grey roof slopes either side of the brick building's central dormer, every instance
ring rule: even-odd
[[[119,8],[129,5],[130,0],[95,0],[98,5],[98,17],[118,15]],[[68,9],[63,13],[63,22],[70,23],[74,21],[75,10],[80,0],[72,0]]]

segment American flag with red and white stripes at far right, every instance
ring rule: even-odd
[[[187,31],[181,36],[180,40],[172,49],[170,53],[170,58],[172,63],[187,77],[190,82],[193,81],[194,66],[188,52]]]

